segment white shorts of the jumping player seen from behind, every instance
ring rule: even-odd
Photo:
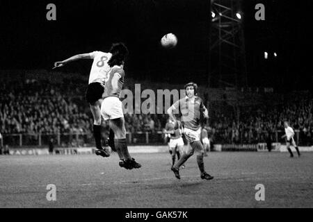
[[[106,97],[101,104],[101,115],[104,120],[124,117],[120,99],[115,96]]]

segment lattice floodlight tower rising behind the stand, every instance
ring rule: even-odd
[[[209,87],[248,84],[241,4],[242,0],[211,0]]]

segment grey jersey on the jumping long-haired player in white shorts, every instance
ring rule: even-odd
[[[115,75],[120,76],[120,79],[118,80],[118,89],[113,89],[113,86],[112,86],[112,78]],[[109,71],[109,80],[106,81],[106,85],[104,88],[104,98],[110,97],[110,96],[115,96],[119,98],[120,92],[122,91],[122,87],[124,84],[124,78],[125,78],[125,71],[121,67],[117,65],[112,67],[111,71]]]

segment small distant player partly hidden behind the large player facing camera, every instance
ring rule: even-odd
[[[177,160],[179,160],[184,148],[184,141],[182,139],[182,123],[177,121],[177,125],[178,126],[175,127],[175,122],[169,118],[164,130],[164,133],[170,134],[170,142],[168,142],[168,147],[170,148],[170,155],[172,156],[172,166],[175,164],[176,155]]]

